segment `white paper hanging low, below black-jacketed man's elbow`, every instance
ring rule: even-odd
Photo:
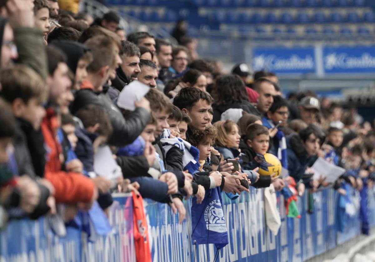
[[[96,174],[108,180],[115,180],[122,175],[109,146],[99,147],[98,151],[96,151],[94,155],[94,170]]]

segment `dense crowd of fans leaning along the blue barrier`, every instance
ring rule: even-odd
[[[48,215],[68,223],[96,201],[107,212],[114,191],[166,203],[182,223],[183,199],[202,203],[216,187],[234,199],[249,185],[294,185],[300,196],[373,186],[375,132],[355,109],[312,92],[286,99],[273,73],[250,77],[239,64],[224,74],[178,30],[184,46],[147,32],[126,36],[119,20],[115,12],[94,20],[59,10],[54,0],[1,6],[3,222]],[[135,110],[121,109],[118,95],[133,80],[150,91]],[[95,171],[103,145],[121,169],[115,181]],[[260,176],[267,152],[286,176]],[[347,170],[334,185],[313,179],[318,157]]]

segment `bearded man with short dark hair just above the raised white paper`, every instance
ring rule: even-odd
[[[121,41],[120,57],[122,63],[116,70],[117,77],[112,81],[112,86],[121,92],[124,86],[132,80],[136,80],[141,72],[139,68],[141,52],[138,46],[132,42],[123,40]]]

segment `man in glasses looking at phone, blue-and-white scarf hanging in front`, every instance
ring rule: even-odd
[[[289,117],[288,102],[279,95],[273,97],[273,104],[263,117],[263,125],[270,129],[270,148],[269,152],[278,156],[284,168],[287,166],[287,142],[284,133],[276,126],[281,121],[279,127],[287,124]]]

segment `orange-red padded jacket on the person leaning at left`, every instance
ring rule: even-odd
[[[56,202],[89,202],[94,194],[93,181],[82,174],[61,171],[61,146],[57,141],[59,121],[53,109],[47,109],[41,128],[46,147],[45,179],[55,188]]]

